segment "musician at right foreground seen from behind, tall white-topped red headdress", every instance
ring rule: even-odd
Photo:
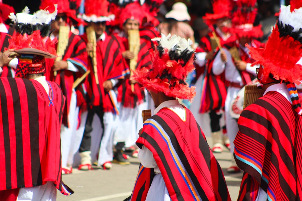
[[[301,200],[302,8],[281,6],[265,48],[248,46],[260,64],[257,78],[264,96],[238,120],[234,157],[244,171],[238,200]]]

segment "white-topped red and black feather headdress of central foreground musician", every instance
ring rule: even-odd
[[[185,82],[188,74],[194,70],[194,50],[190,39],[179,36],[162,35],[153,41],[154,49],[150,52],[150,68],[133,71],[132,80],[137,80],[148,90],[163,92],[166,96],[193,99],[195,87]]]

